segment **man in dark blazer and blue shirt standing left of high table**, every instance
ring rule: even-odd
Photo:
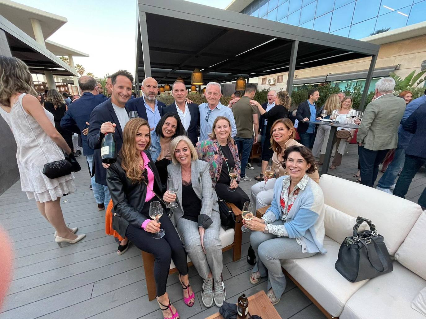
[[[312,89],[308,92],[308,100],[302,102],[297,107],[296,119],[299,121],[297,132],[299,133],[300,142],[312,148],[314,145],[316,125],[312,123],[304,123],[302,121],[315,121],[319,117],[319,107],[315,104],[320,98],[320,92]]]

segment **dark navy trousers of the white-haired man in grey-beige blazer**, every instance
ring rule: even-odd
[[[371,151],[364,146],[358,149],[361,168],[361,184],[373,187],[379,173],[379,165],[388,154],[388,150]]]

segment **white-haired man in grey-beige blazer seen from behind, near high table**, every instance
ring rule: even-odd
[[[361,183],[366,186],[373,187],[380,163],[391,148],[397,148],[405,101],[392,94],[394,88],[391,77],[377,81],[375,100],[368,103],[358,129]]]

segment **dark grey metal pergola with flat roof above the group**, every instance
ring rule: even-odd
[[[371,57],[364,105],[378,45],[183,0],[138,0],[138,7],[137,86],[150,76],[190,85],[195,68],[204,84],[288,71],[291,93],[295,70]]]

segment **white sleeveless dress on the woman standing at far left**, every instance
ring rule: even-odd
[[[12,130],[17,144],[16,159],[21,178],[22,191],[28,199],[47,202],[75,191],[74,175],[69,174],[55,179],[49,179],[43,174],[44,164],[64,159],[63,152],[43,131],[34,117],[26,113],[22,107],[22,98],[18,97],[10,113],[0,108],[0,115],[6,120]],[[49,120],[54,124],[52,113],[44,110]]]

